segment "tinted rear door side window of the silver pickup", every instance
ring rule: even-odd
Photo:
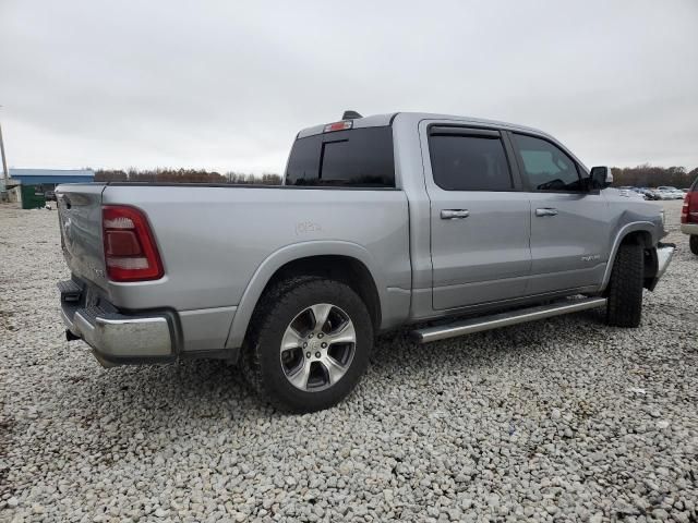
[[[498,131],[432,127],[429,154],[434,183],[445,191],[513,191]]]

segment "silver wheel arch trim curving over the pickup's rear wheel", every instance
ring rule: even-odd
[[[281,279],[300,275],[329,277],[348,284],[366,304],[374,330],[378,331],[386,287],[370,253],[350,242],[304,242],[279,248],[257,267],[230,325],[226,349],[242,345],[264,292]]]

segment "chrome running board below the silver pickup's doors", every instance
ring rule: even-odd
[[[482,330],[508,327],[509,325],[525,324],[537,319],[551,318],[563,314],[578,313],[589,308],[602,307],[606,304],[605,297],[589,297],[585,300],[565,300],[550,305],[519,308],[508,313],[468,318],[453,324],[426,327],[412,331],[412,337],[420,343],[445,340],[457,336],[470,335]]]

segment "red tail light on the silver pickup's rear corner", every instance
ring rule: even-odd
[[[112,281],[157,280],[163,263],[145,215],[133,207],[101,208],[107,275]]]

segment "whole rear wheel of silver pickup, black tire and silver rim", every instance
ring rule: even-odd
[[[263,297],[245,344],[243,367],[253,388],[278,408],[312,412],[354,388],[369,363],[373,326],[348,285],[301,277]]]

